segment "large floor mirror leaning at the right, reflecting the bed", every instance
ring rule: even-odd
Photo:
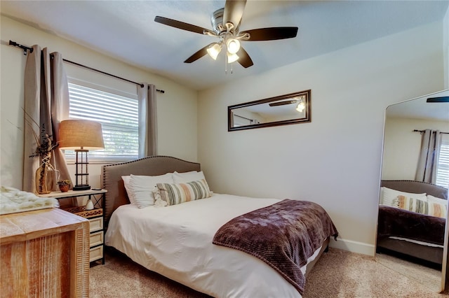
[[[448,99],[445,90],[387,107],[377,220],[377,262],[434,292],[447,264]]]

